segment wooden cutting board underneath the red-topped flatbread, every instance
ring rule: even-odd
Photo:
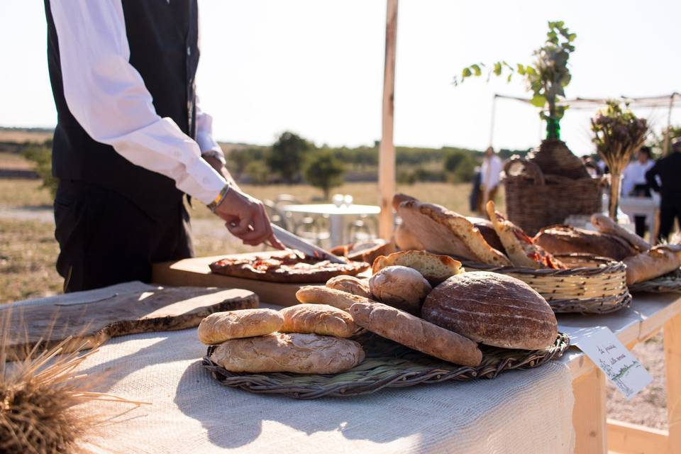
[[[263,255],[264,253],[258,253]],[[229,257],[243,257],[253,255],[233,254]],[[293,306],[298,304],[296,292],[304,285],[316,284],[286,284],[283,282],[265,282],[257,279],[244,279],[216,275],[211,272],[209,265],[228,255],[214,257],[186,258],[177,262],[156,263],[152,271],[152,282],[161,285],[196,285],[200,287],[228,287],[247,289],[260,297],[260,301],[279,306]]]

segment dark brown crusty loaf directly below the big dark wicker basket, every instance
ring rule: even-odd
[[[638,253],[619,236],[567,226],[541,229],[534,237],[534,243],[552,254],[586,253],[618,262]]]

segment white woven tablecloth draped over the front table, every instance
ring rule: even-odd
[[[99,391],[152,402],[96,429],[101,453],[572,453],[572,385],[550,362],[494,380],[384,389],[370,396],[297,401],[223,387],[201,366],[194,329],[114,338],[81,371]]]

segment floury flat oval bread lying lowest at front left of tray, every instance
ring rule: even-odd
[[[274,333],[219,345],[211,360],[230,372],[337,374],[364,360],[362,346],[317,334]]]

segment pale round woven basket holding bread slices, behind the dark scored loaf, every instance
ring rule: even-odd
[[[588,254],[556,254],[567,270],[496,267],[460,260],[467,271],[498,272],[521,279],[548,301],[554,312],[607,314],[631,304],[626,265]]]

